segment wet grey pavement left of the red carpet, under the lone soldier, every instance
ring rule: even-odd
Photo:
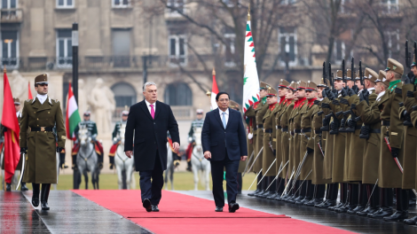
[[[32,191],[0,191],[0,232],[152,233],[72,191],[51,191],[49,206],[32,207]]]

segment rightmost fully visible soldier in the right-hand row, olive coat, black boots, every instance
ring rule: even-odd
[[[402,221],[408,217],[408,191],[402,189],[403,175],[397,165],[404,159],[404,124],[399,116],[399,104],[403,102],[401,76],[404,67],[397,60],[389,58],[387,62],[387,81],[389,87],[386,95],[388,101],[382,107],[381,120],[381,154],[378,185],[382,188],[394,188],[397,196],[397,212],[386,216],[385,221]],[[397,161],[396,161],[397,160]]]

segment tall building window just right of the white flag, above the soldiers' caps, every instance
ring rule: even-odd
[[[297,55],[297,37],[295,28],[279,29],[279,44],[280,44],[280,63],[285,65],[288,61],[288,65],[294,66],[296,64]]]

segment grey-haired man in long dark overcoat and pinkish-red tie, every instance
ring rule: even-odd
[[[158,212],[162,196],[163,171],[167,169],[167,131],[171,136],[174,150],[178,152],[178,124],[170,106],[156,100],[157,89],[154,82],[146,82],[143,93],[145,100],[130,106],[124,152],[130,158],[135,144],[135,168],[140,175],[143,207],[147,212]],[[134,143],[133,132],[135,132]]]

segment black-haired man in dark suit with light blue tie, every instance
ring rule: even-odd
[[[219,92],[216,95],[216,102],[218,108],[206,115],[201,142],[204,158],[210,160],[211,164],[216,212],[223,212],[225,168],[229,212],[234,213],[239,209],[239,204],[236,203],[239,160],[246,160],[248,157],[246,133],[240,112],[229,108],[229,94]]]

